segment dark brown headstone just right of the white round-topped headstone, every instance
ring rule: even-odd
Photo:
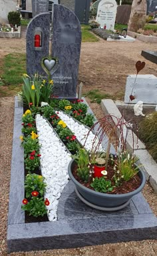
[[[116,23],[128,24],[131,13],[131,5],[118,5],[116,9]]]

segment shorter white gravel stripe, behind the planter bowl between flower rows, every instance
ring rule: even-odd
[[[57,115],[67,124],[67,127],[71,129],[73,133],[75,133],[75,136],[77,136],[78,141],[84,145],[85,141],[86,144],[84,145],[85,149],[88,151],[92,150],[92,143],[94,141],[95,135],[82,124],[75,122],[72,117],[69,117],[62,111],[56,111]],[[86,138],[86,135],[88,134],[88,137]],[[95,145],[98,143],[98,139],[95,141]],[[103,151],[102,147],[99,147],[99,150]]]

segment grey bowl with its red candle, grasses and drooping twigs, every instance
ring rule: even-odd
[[[96,209],[116,211],[126,207],[132,196],[142,190],[146,178],[140,166],[136,165],[138,159],[134,151],[130,153],[126,149],[129,123],[123,117],[118,119],[109,115],[95,125],[98,129],[92,150],[86,151],[85,141],[69,163],[69,177],[84,203]],[[108,145],[104,151],[102,144],[106,136]],[[133,133],[132,141],[134,145]],[[114,145],[114,155],[110,154],[111,144]]]

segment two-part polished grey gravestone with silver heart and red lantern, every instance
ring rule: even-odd
[[[54,4],[53,39],[50,41],[50,19],[50,13],[42,13],[28,25],[27,73],[51,77],[53,95],[74,99],[77,97],[80,60],[80,23],[73,11]],[[52,49],[51,53],[49,49]]]

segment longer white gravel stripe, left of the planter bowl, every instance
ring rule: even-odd
[[[39,135],[41,173],[47,184],[45,199],[50,202],[47,206],[48,217],[49,221],[57,221],[59,198],[69,182],[68,165],[71,155],[41,115],[36,116],[36,127]]]

